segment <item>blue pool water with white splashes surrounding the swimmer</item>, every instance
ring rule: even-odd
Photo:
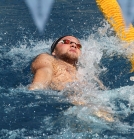
[[[32,59],[49,52],[53,40],[72,34],[83,45],[84,75],[64,91],[29,91]],[[39,34],[23,0],[0,1],[0,138],[1,139],[133,139],[134,82],[129,50],[105,22],[95,0],[55,1],[43,34]],[[106,91],[97,88],[97,75]],[[82,91],[92,107],[74,106],[66,92]],[[79,95],[76,96],[79,100]],[[93,115],[108,109],[114,122]]]

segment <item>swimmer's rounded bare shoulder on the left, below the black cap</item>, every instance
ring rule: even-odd
[[[52,62],[54,61],[53,56],[42,53],[35,57],[32,62],[32,71],[35,72],[36,70],[44,67],[52,67]]]

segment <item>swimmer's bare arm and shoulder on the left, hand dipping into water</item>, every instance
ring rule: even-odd
[[[52,79],[53,57],[48,54],[40,54],[32,63],[31,69],[34,74],[29,90],[45,89],[49,86]]]

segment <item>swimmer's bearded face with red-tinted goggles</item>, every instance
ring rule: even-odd
[[[72,59],[78,60],[81,54],[81,45],[77,38],[73,36],[66,36],[62,38],[56,45],[52,55],[58,58],[63,56]]]

